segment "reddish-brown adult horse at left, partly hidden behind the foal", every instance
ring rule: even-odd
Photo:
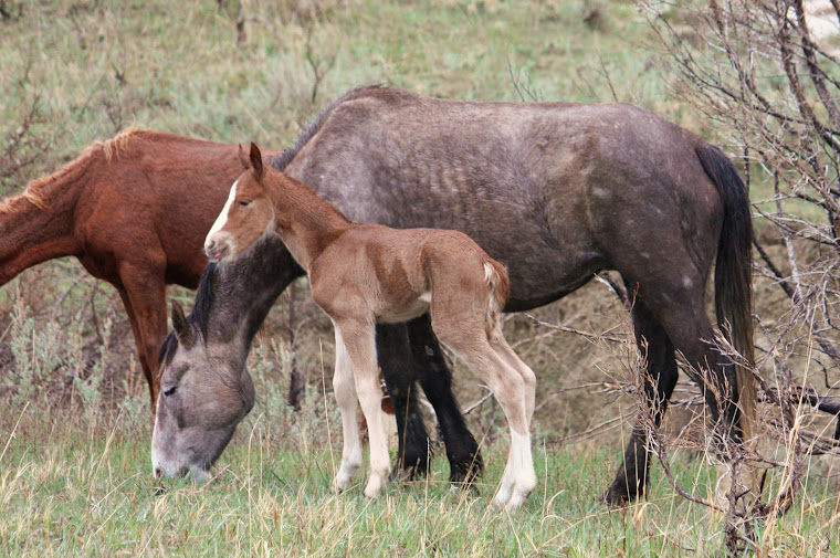
[[[266,150],[266,160],[274,155]],[[0,207],[0,285],[69,255],[114,285],[154,417],[166,285],[198,285],[207,265],[204,236],[241,172],[235,145],[139,129],[94,143]]]

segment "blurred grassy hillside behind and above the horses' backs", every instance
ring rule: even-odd
[[[615,92],[666,107],[647,24],[626,2],[19,4],[0,27],[0,123],[13,133],[39,98],[36,131],[52,140],[33,177],[132,124],[280,147],[318,107],[367,83],[487,101],[518,99],[518,83],[525,98]]]

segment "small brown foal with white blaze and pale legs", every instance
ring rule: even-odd
[[[335,488],[347,488],[361,465],[357,400],[370,439],[365,496],[377,496],[386,483],[390,462],[375,326],[430,312],[438,338],[486,382],[505,412],[511,448],[493,502],[519,506],[536,486],[529,434],[536,379],[502,335],[498,316],[508,294],[504,267],[461,232],[351,222],[303,182],[264,168],[251,144],[250,169],[231,187],[204,251],[224,262],[271,232],[307,271],[312,296],[335,326],[333,387],[344,431]]]

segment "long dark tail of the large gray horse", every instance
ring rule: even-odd
[[[745,440],[753,436],[756,420],[756,385],[753,345],[753,223],[749,214],[749,192],[732,161],[716,147],[696,148],[706,175],[717,186],[724,207],[723,229],[717,241],[715,264],[715,313],[724,336],[747,361],[749,368],[737,366],[741,430]]]

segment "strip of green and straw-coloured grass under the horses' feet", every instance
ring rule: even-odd
[[[18,409],[20,411],[20,409]],[[649,501],[610,509],[598,496],[618,452],[537,449],[537,491],[508,514],[489,506],[504,443],[485,450],[477,492],[452,492],[445,461],[421,482],[366,501],[360,486],[334,495],[333,444],[279,435],[250,421],[216,477],[156,482],[145,415],[35,417],[30,409],[3,441],[0,554],[3,556],[714,556],[722,519],[675,496],[655,467]],[[277,428],[275,425],[274,428]],[[334,425],[334,427],[337,427]],[[334,428],[335,430],[335,428]],[[675,460],[695,493],[712,489],[702,460]],[[361,482],[363,475],[359,475]],[[833,485],[833,486],[832,486]],[[776,556],[840,549],[836,483],[812,480],[809,504],[774,529]],[[815,495],[819,495],[815,497]],[[778,529],[778,531],[776,531]],[[800,555],[801,556],[801,555]],[[817,556],[810,554],[809,556]]]

